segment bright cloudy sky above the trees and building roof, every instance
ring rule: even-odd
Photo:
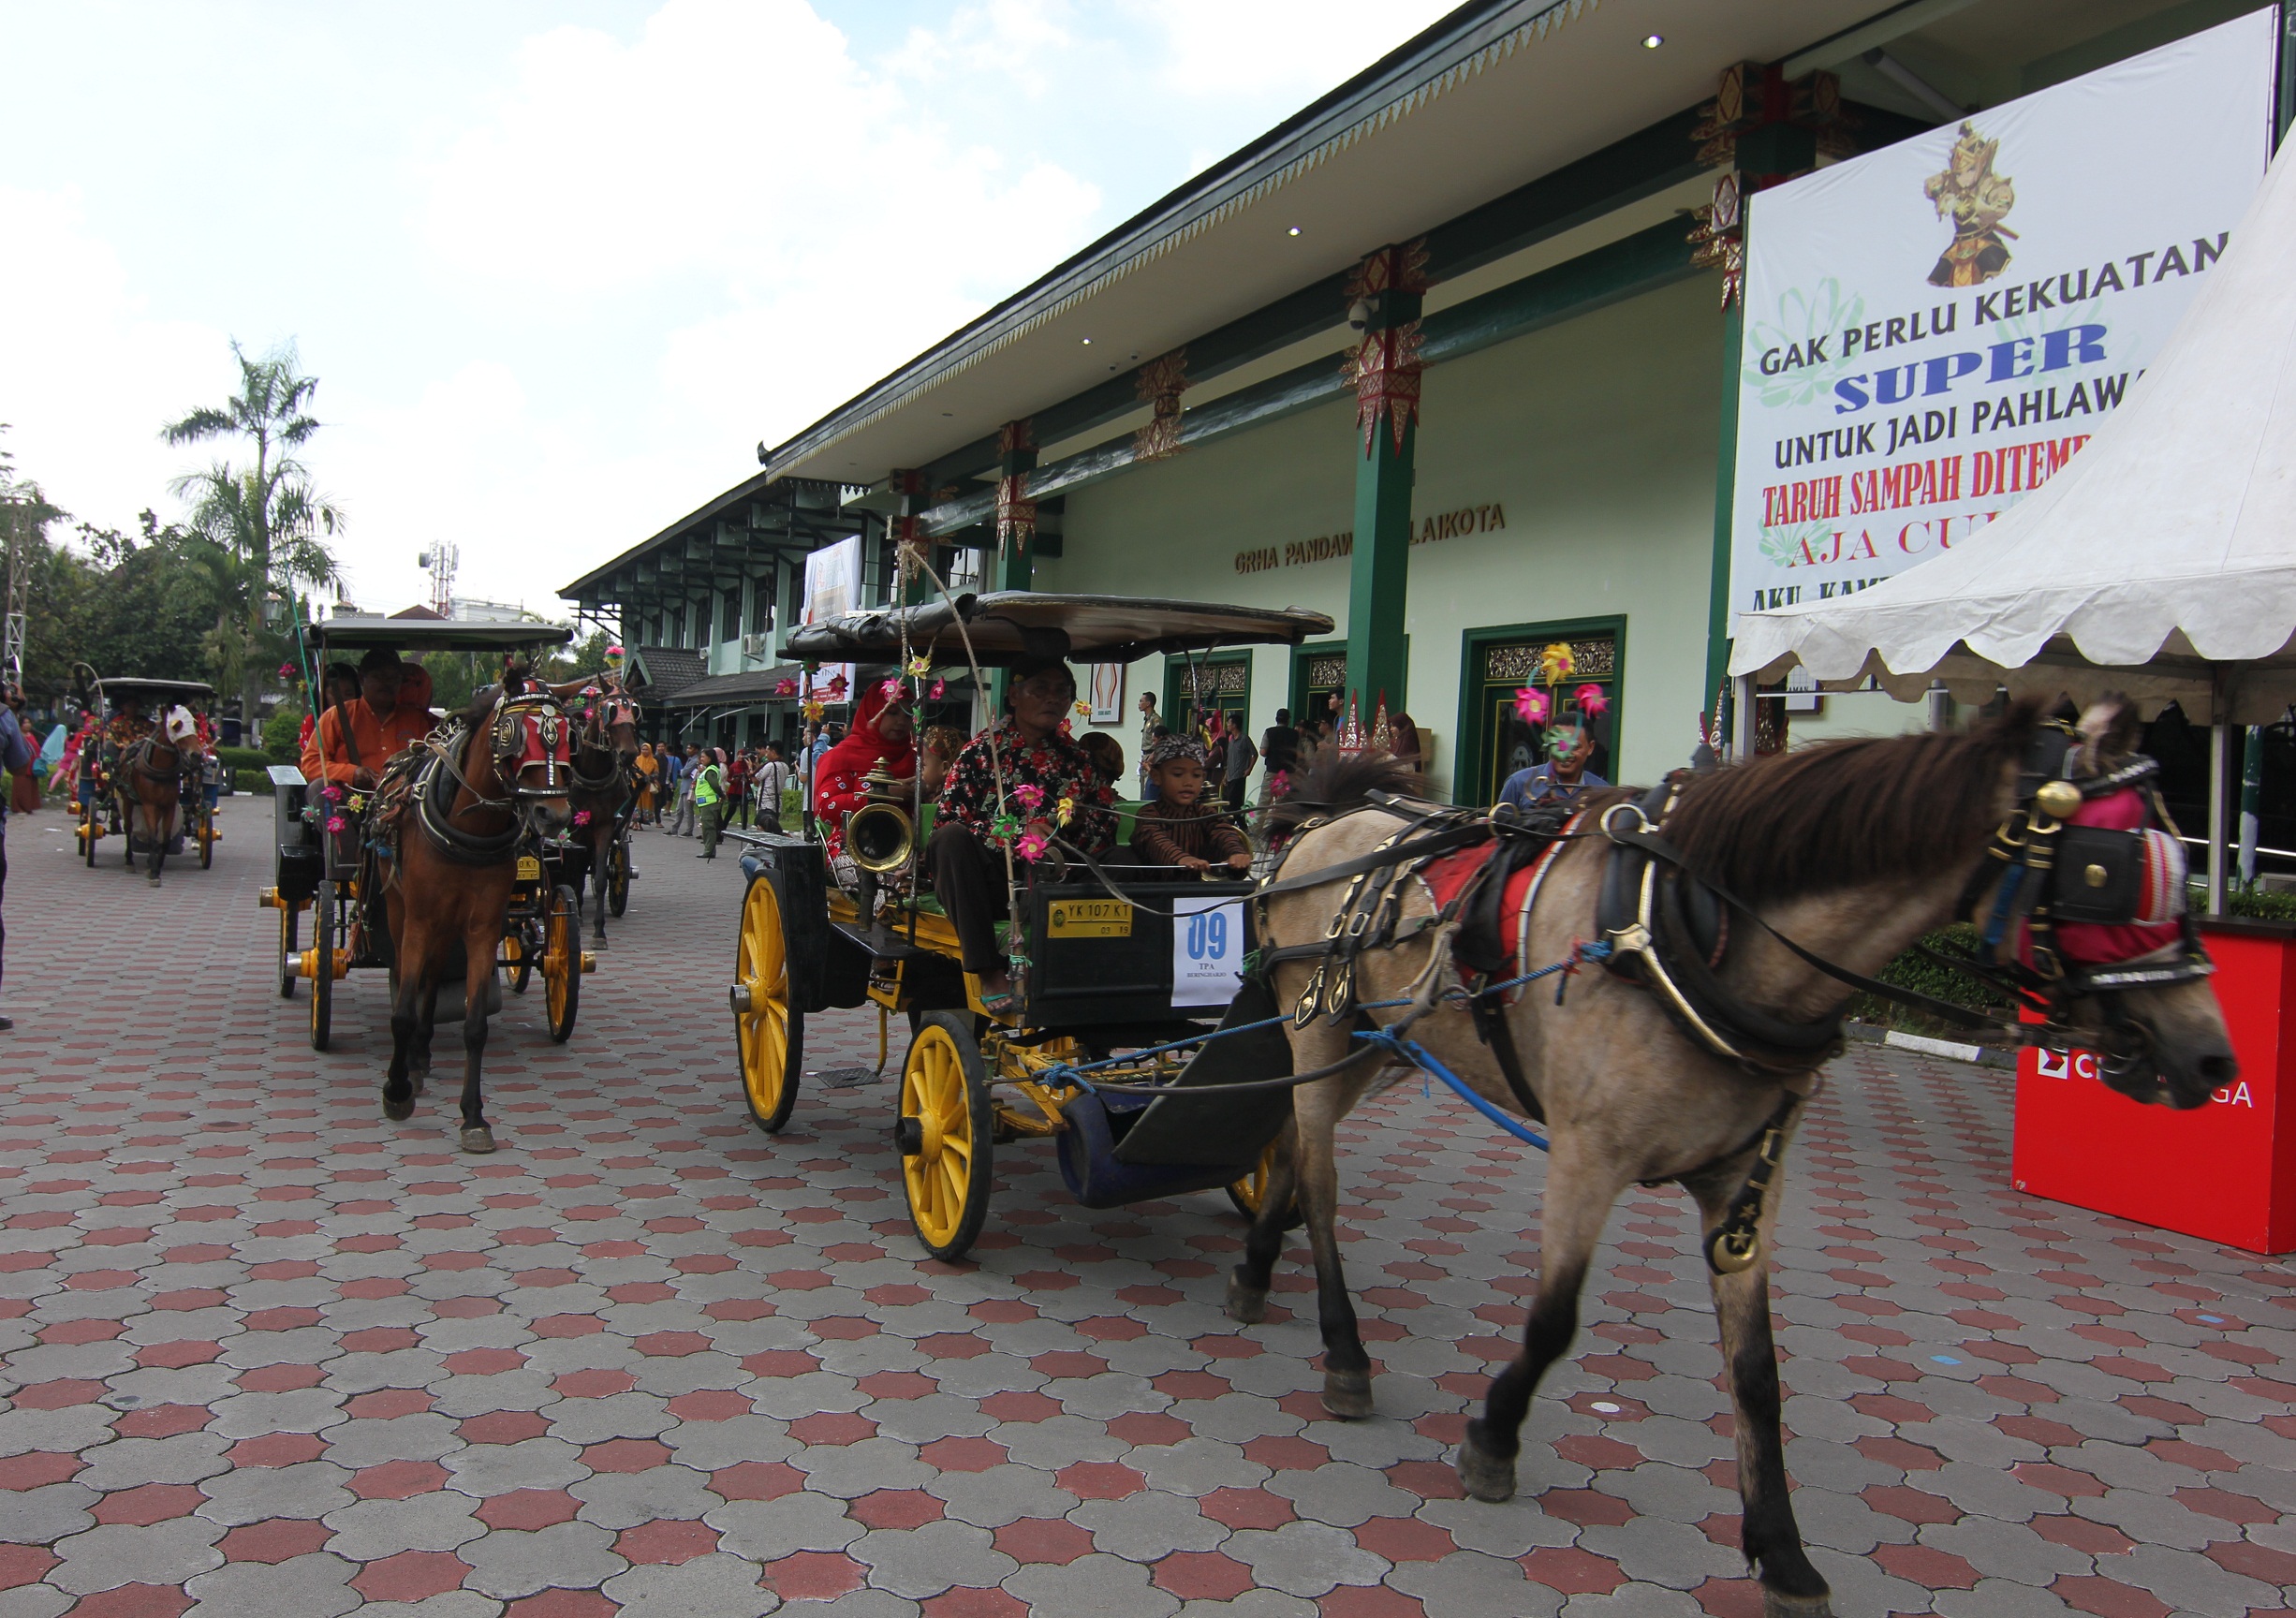
[[[294,340],[351,597],[556,585],[1449,0],[0,0],[0,445],[83,521]]]

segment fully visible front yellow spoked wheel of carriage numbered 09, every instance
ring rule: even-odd
[[[969,1021],[930,1012],[900,1065],[900,1180],[934,1258],[964,1258],[990,1212],[994,1109]]]

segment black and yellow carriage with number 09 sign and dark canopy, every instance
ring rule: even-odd
[[[785,656],[909,670],[1042,656],[1132,663],[1327,633],[1332,620],[1304,610],[999,592],[813,624]],[[1049,1136],[1086,1207],[1226,1187],[1256,1212],[1290,1092],[1201,1090],[1290,1072],[1283,1033],[1267,1026],[1274,1005],[1242,971],[1254,884],[1139,865],[1125,851],[1063,861],[1054,845],[1052,858],[1015,868],[1010,925],[1029,971],[1019,996],[990,1010],[918,872],[928,808],[914,783],[886,785],[847,822],[836,865],[806,838],[728,833],[751,845],[730,1001],[758,1127],[774,1134],[790,1118],[806,1017],[875,1003],[912,1028],[895,1143],[909,1216],[934,1258],[971,1246],[992,1150],[1017,1138]],[[1187,1056],[1215,1026],[1238,1033]],[[1120,1092],[1127,1086],[1169,1092]]]

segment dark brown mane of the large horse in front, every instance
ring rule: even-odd
[[[1745,897],[1789,900],[1977,856],[2039,702],[1963,732],[1821,741],[1692,778],[1667,840]]]

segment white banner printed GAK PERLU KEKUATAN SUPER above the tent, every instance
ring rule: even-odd
[[[2271,76],[2266,9],[1754,195],[1731,613],[1880,583],[2078,454],[2248,209]]]

